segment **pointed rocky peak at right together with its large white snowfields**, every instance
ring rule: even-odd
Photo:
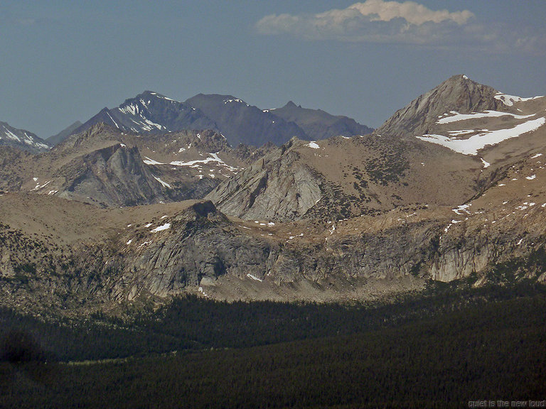
[[[491,160],[505,157],[484,159],[494,146],[530,136],[546,123],[542,114],[545,102],[544,97],[515,97],[466,75],[454,75],[397,111],[376,134],[407,141],[418,138],[464,155],[479,155],[488,166]],[[510,155],[523,149],[518,144],[512,143]]]

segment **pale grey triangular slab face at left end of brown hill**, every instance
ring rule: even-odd
[[[321,179],[291,150],[296,139],[258,160],[207,196],[242,219],[291,220],[321,198]]]

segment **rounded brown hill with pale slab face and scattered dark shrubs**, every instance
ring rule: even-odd
[[[207,198],[242,219],[344,219],[406,205],[458,205],[496,177],[478,158],[417,139],[293,139]]]

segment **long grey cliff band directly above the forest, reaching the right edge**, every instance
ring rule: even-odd
[[[533,214],[529,223],[543,224],[540,219],[539,213]],[[267,298],[302,282],[328,293],[328,283],[346,280],[389,285],[470,277],[479,278],[476,283],[494,281],[499,278],[491,276],[495,266],[520,261],[520,273],[527,278],[538,279],[543,272],[540,254],[546,240],[539,233],[528,233],[526,225],[510,224],[485,234],[478,221],[448,232],[444,223],[424,218],[373,233],[325,232],[319,241],[301,239],[287,244],[278,236],[240,229],[212,202],[200,202],[174,217],[164,236],[149,243],[143,238],[147,244],[124,253],[119,261],[124,274],[112,283],[113,293],[119,300],[146,294],[164,298],[202,286],[210,296],[222,298],[223,293],[237,292],[250,282]],[[532,253],[539,256],[529,256]],[[300,299],[308,296],[306,290],[299,294]]]

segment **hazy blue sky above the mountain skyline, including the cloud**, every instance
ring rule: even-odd
[[[546,94],[545,0],[0,0],[0,121],[46,138],[145,89],[377,127],[454,74]]]

